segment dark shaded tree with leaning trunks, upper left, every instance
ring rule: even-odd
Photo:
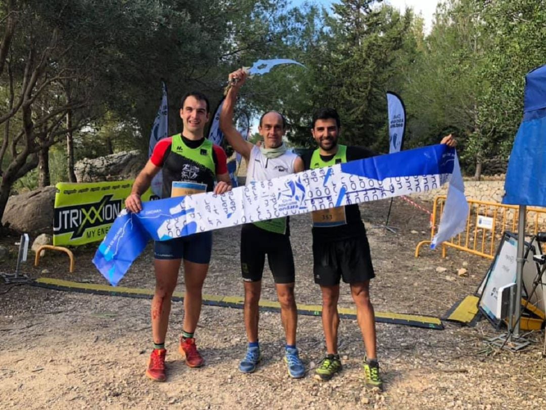
[[[90,133],[80,130],[105,130],[115,113],[117,128],[149,135],[161,79],[174,123],[188,90],[218,101],[227,67],[278,41],[272,23],[284,4],[0,0],[0,216],[15,181],[39,162],[49,178],[49,149],[68,132],[76,149],[88,147]],[[115,128],[109,138],[120,134]]]

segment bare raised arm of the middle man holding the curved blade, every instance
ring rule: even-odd
[[[233,124],[233,110],[235,109],[239,89],[245,83],[246,73],[243,69],[239,69],[229,74],[229,80],[235,81],[224,99],[222,112],[220,113],[220,130],[224,133],[229,145],[248,161],[253,145],[242,138],[241,133],[237,131]]]

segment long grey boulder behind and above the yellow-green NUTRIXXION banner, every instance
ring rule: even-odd
[[[122,151],[99,158],[85,158],[74,165],[78,182],[117,181],[134,179],[146,163],[140,151]]]

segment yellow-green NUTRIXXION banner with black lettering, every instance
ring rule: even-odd
[[[125,207],[125,198],[131,192],[133,180],[58,183],[55,194],[53,221],[54,245],[82,245],[101,241],[112,222]],[[150,201],[153,194],[147,190],[141,196]]]

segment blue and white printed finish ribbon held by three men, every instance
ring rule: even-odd
[[[138,213],[122,210],[99,245],[94,265],[117,285],[150,239],[298,215],[440,188],[450,182],[432,248],[462,232],[468,214],[459,160],[447,145],[401,151],[257,181],[222,195],[212,192],[144,202]],[[327,228],[324,228],[327,229]]]

